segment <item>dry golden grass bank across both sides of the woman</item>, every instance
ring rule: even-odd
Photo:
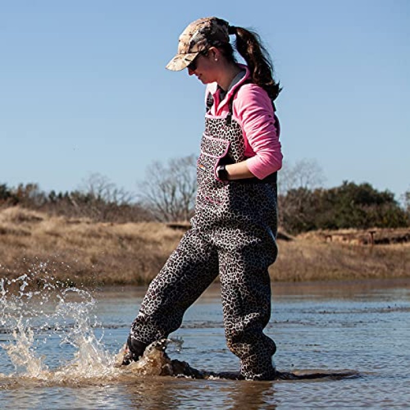
[[[182,234],[162,223],[95,223],[6,208],[0,210],[0,278],[29,274],[39,286],[45,280],[77,286],[147,284]],[[279,239],[272,280],[410,277],[409,242],[361,244],[352,230],[350,241],[332,240],[332,235],[339,233]]]

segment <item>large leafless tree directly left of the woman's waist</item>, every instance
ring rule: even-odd
[[[155,219],[188,221],[193,215],[196,196],[196,157],[173,158],[163,165],[155,161],[139,184],[142,203]]]

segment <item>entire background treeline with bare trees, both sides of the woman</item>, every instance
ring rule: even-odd
[[[155,172],[154,172],[155,171]],[[92,174],[72,192],[44,192],[38,184],[0,184],[0,207],[22,206],[50,215],[87,217],[103,222],[183,221],[194,213],[196,160],[193,155],[153,163],[137,195],[108,178]],[[410,226],[410,191],[402,204],[389,191],[369,183],[344,181],[317,187],[324,178],[317,164],[300,161],[279,173],[279,226],[290,234],[317,229],[399,228]]]

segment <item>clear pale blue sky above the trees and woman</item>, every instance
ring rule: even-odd
[[[326,187],[410,189],[408,0],[0,0],[0,183],[137,192],[152,161],[197,153],[203,85],[165,65],[210,15],[270,51],[287,161],[315,159]]]

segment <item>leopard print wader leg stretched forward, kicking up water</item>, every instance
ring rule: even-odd
[[[151,282],[132,323],[130,339],[131,343],[138,342],[139,353],[144,345],[166,338],[177,330],[185,311],[217,276],[215,247],[191,229]],[[132,345],[130,347],[132,350]]]

